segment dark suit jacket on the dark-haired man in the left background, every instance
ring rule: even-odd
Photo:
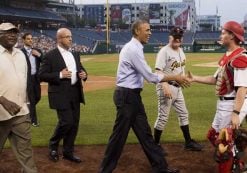
[[[35,48],[34,48],[35,49]],[[39,68],[40,68],[40,64],[42,62],[42,59],[43,59],[43,53],[41,50],[39,49],[35,49],[37,50],[39,53],[41,53],[41,56],[35,56],[35,64],[36,64],[36,82],[33,83],[32,80],[31,80],[31,63],[30,63],[30,60],[29,60],[29,56],[27,54],[27,51],[26,49],[23,47],[21,49],[21,51],[25,54],[25,57],[26,57],[26,61],[27,61],[27,82],[28,82],[28,85],[27,85],[27,93],[28,93],[28,98],[29,100],[32,102],[35,102],[38,103],[40,98],[41,98],[41,88],[40,88],[40,80],[39,80],[39,77],[38,77],[38,73],[39,73]],[[34,89],[35,88],[35,89]],[[34,93],[36,92],[36,93]]]

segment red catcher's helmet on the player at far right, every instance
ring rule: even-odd
[[[244,28],[235,21],[226,22],[223,29],[231,31],[241,42],[244,42]]]

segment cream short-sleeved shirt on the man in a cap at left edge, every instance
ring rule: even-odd
[[[18,114],[11,116],[0,105],[0,121],[27,115],[27,63],[24,53],[13,48],[12,53],[0,45],[0,95],[21,106]]]

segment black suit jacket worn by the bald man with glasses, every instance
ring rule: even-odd
[[[77,71],[85,71],[85,68],[80,62],[80,55],[73,53]],[[41,64],[39,77],[41,81],[48,82],[48,98],[50,108],[52,109],[65,109],[70,107],[69,89],[71,87],[71,79],[60,79],[60,71],[66,68],[65,61],[58,48],[49,51]],[[87,72],[86,72],[87,73]],[[82,81],[77,73],[77,82],[75,86],[78,87],[80,92],[80,103],[85,104]],[[86,79],[85,79],[86,80]]]

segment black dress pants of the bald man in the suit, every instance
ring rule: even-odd
[[[63,139],[63,154],[70,155],[74,152],[74,143],[80,121],[80,102],[78,87],[71,87],[70,107],[57,109],[58,123],[50,139],[50,150],[58,149],[60,140]]]

